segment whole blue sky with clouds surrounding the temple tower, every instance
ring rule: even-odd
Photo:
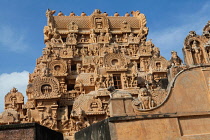
[[[152,39],[166,59],[172,50],[182,57],[188,32],[195,30],[201,34],[210,20],[209,0],[1,0],[0,112],[4,95],[13,86],[25,94],[28,72],[33,72],[45,46],[43,27],[47,8],[65,15],[72,11],[90,15],[94,9],[100,9],[110,16],[139,10],[147,17],[148,39]]]

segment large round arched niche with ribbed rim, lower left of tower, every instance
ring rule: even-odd
[[[55,77],[37,77],[33,81],[33,96],[37,99],[59,97],[59,81]]]

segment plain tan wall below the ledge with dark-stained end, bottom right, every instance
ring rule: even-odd
[[[75,134],[75,140],[207,140],[210,114],[111,117]]]

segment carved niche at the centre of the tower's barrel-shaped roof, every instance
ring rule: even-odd
[[[108,32],[109,24],[108,19],[104,14],[101,14],[101,11],[96,9],[91,15],[92,29],[95,32]]]

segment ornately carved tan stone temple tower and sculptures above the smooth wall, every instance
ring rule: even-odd
[[[203,35],[191,31],[186,37],[184,65],[177,52],[167,61],[147,40],[146,17],[139,11],[123,17],[98,9],[81,16],[54,13],[46,12],[46,47],[29,74],[28,101],[15,89],[8,93],[1,124],[37,122],[68,139],[105,118],[162,107],[168,83],[181,70],[210,63],[209,22]]]

